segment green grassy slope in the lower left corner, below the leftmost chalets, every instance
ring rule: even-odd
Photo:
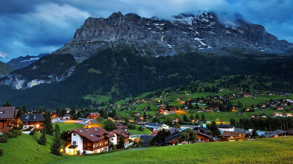
[[[0,148],[4,151],[3,156],[0,157],[0,164],[52,163],[74,157],[50,154],[50,146],[54,137],[47,135],[47,145],[40,145],[37,143],[40,135],[40,133],[37,133],[37,136],[22,134],[17,138],[8,139],[6,143],[0,143]]]

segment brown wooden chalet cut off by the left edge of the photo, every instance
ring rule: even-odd
[[[0,107],[0,132],[6,132],[18,126],[20,117],[21,114],[15,107]]]

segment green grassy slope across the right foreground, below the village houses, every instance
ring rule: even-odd
[[[293,137],[245,142],[209,142],[118,151],[57,163],[292,163]]]

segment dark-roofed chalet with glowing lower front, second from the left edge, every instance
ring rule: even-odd
[[[42,127],[42,121],[45,121],[42,114],[22,114],[19,119],[23,124],[23,129],[27,129],[30,126],[33,128],[40,128]]]

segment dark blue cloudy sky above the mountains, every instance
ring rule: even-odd
[[[169,18],[209,10],[224,12],[226,20],[238,12],[279,40],[292,43],[292,6],[292,0],[1,0],[0,61],[51,53],[72,39],[86,18],[108,18],[118,11]]]

